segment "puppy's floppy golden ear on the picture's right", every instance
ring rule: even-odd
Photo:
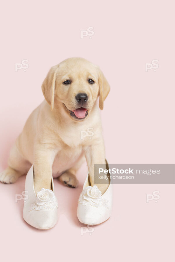
[[[109,90],[110,90],[110,86],[108,84],[108,81],[106,80],[106,78],[104,77],[103,73],[101,72],[101,70],[99,69],[99,78],[98,78],[98,82],[99,82],[99,108],[101,110],[103,110],[103,104],[104,104],[104,100],[106,99]]]

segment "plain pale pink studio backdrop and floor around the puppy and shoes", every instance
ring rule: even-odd
[[[111,85],[101,113],[109,163],[174,163],[173,1],[6,1],[1,8],[0,171],[51,66],[74,56],[98,64]],[[94,35],[81,39],[81,30]],[[15,72],[15,63],[29,68]],[[159,67],[145,72],[145,63]],[[2,261],[174,261],[174,185],[114,185],[113,215],[81,235],[79,187],[55,192],[60,219],[38,231],[22,218],[25,177],[0,184]],[[158,190],[160,199],[146,203]],[[111,259],[111,258],[110,258]]]

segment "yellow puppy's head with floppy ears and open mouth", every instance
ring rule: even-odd
[[[51,110],[61,106],[75,121],[87,118],[98,96],[102,110],[109,89],[101,70],[83,58],[69,58],[53,66],[42,84]]]

